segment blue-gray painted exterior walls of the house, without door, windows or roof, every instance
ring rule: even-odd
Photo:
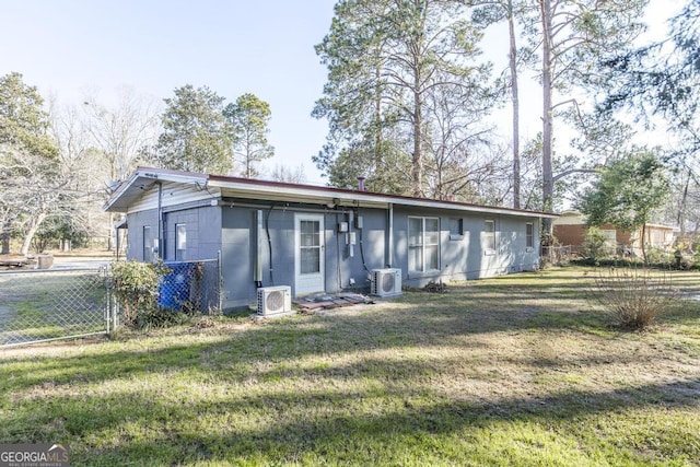
[[[168,206],[163,210],[165,260],[174,260],[176,225],[187,233],[186,260],[215,258],[221,252],[223,306],[247,307],[257,299],[258,287],[290,285],[295,292],[295,218],[323,219],[323,291],[366,291],[370,271],[400,268],[402,283],[423,287],[431,281],[479,279],[539,267],[539,220],[522,215],[465,213],[458,210],[427,210],[396,207],[393,210],[320,205],[279,206],[265,201],[232,199],[218,206]],[[358,218],[361,218],[358,223]],[[439,268],[409,270],[410,218],[439,221]],[[460,221],[462,233],[454,231]],[[494,226],[495,248],[487,250],[486,221]],[[340,232],[339,224],[347,225]],[[526,245],[526,224],[533,224],[533,247]],[[158,209],[128,214],[128,257],[144,260],[143,227],[158,237]],[[361,224],[361,229],[360,229]],[[394,234],[389,238],[389,225]],[[354,235],[352,247],[348,244]],[[268,236],[269,235],[269,236]],[[392,245],[392,249],[389,249]],[[180,259],[180,258],[178,258]]]

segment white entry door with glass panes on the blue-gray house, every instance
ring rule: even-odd
[[[324,217],[296,214],[295,227],[295,289],[296,295],[324,292]]]

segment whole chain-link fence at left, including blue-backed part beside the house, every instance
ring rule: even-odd
[[[222,310],[219,259],[165,262],[158,290],[143,290],[154,306],[188,314]],[[143,301],[117,300],[112,265],[100,269],[0,271],[0,347],[107,334],[125,323],[125,310]]]

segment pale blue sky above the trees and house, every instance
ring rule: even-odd
[[[665,17],[664,5],[651,17]],[[302,165],[310,184],[327,180],[311,157],[322,149],[325,120],[311,117],[327,70],[314,46],[330,27],[335,0],[0,0],[0,75],[24,82],[67,105],[86,90],[114,98],[119,86],[154,100],[185,84],[208,86],[233,102],[253,93],[270,104],[267,167]],[[504,60],[506,37],[490,34],[485,49]],[[523,108],[536,108],[537,94]],[[538,118],[522,118],[524,136]]]

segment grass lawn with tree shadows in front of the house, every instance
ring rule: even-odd
[[[7,349],[0,443],[104,466],[700,465],[700,301],[621,332],[584,272]]]

